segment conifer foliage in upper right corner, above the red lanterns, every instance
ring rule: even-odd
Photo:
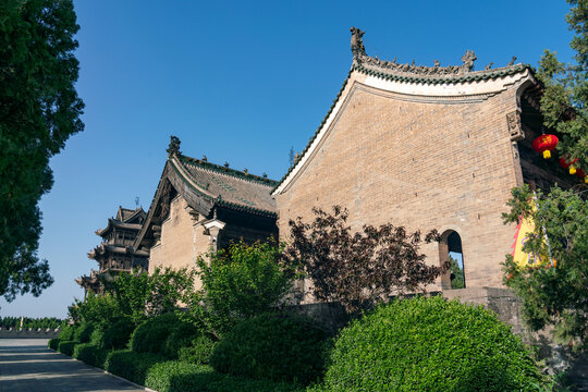
[[[544,85],[541,112],[544,124],[561,136],[558,149],[578,159],[576,164],[588,172],[588,2],[567,2],[573,5],[567,23],[576,33],[569,44],[575,63],[561,63],[555,52],[544,51],[537,73]]]

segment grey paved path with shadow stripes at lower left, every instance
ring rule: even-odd
[[[47,348],[47,339],[0,339],[1,392],[145,390]]]

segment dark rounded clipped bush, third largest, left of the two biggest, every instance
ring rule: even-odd
[[[182,321],[174,314],[164,314],[143,321],[131,335],[128,346],[136,353],[163,352],[166,340]]]

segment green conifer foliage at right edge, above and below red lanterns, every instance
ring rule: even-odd
[[[544,124],[561,136],[558,149],[575,158],[575,166],[588,172],[588,2],[567,0],[571,47],[575,64],[558,61],[546,50],[538,78],[544,89],[541,112]],[[553,187],[548,195],[534,195],[528,186],[514,188],[505,223],[530,219],[535,231],[524,250],[553,262],[518,266],[507,256],[504,282],[523,298],[528,326],[539,330],[555,326],[560,338],[588,343],[588,205],[586,188],[563,191]],[[547,236],[549,242],[543,241]]]

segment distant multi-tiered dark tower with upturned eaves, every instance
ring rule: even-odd
[[[120,271],[147,269],[149,254],[145,250],[135,252],[132,247],[145,217],[146,212],[140,207],[134,210],[119,207],[117,216],[108,219],[107,228],[96,231],[102,241],[88,253],[88,257],[98,262],[98,270],[91,270],[89,275],[75,280],[84,287],[85,295],[88,291],[102,293],[103,281]]]

